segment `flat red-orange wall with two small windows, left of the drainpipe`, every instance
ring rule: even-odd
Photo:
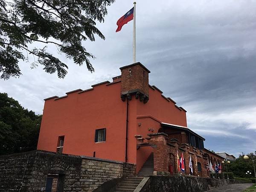
[[[56,151],[58,137],[64,135],[63,153],[93,156],[96,151],[96,157],[125,161],[126,103],[120,99],[120,85],[101,84],[46,100],[38,149]],[[94,142],[99,128],[106,128],[105,143]]]

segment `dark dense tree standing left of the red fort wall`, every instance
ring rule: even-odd
[[[0,93],[0,155],[35,150],[41,119],[7,93]]]

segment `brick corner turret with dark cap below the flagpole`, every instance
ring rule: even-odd
[[[131,100],[132,94],[136,99],[144,103],[148,102],[148,73],[150,71],[140,62],[120,67],[122,73],[121,81],[121,99]]]

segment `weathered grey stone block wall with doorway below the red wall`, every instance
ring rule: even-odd
[[[109,180],[135,174],[134,164],[94,157],[47,151],[0,156],[0,192],[45,191],[49,175],[58,175],[65,192],[90,192]],[[56,187],[55,179],[52,186]]]

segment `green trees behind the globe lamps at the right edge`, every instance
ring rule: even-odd
[[[256,151],[247,154],[247,156],[250,160],[244,160],[244,154],[240,154],[235,161],[231,161],[228,171],[233,172],[235,177],[254,177],[253,162],[251,160],[253,159],[254,163],[256,163]],[[252,174],[245,174],[247,171]]]

